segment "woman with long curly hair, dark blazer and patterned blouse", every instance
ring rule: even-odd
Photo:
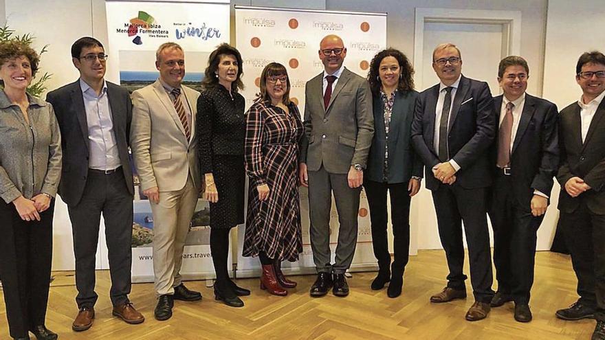
[[[397,49],[384,49],[372,59],[368,81],[373,94],[374,137],[364,188],[370,207],[374,256],[378,275],[372,289],[388,285],[388,297],[401,295],[410,247],[410,200],[420,190],[422,162],[411,145],[411,126],[417,91],[414,69]],[[391,196],[393,250],[391,264],[386,236],[387,192]]]

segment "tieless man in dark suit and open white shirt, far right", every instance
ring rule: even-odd
[[[559,114],[557,181],[560,223],[580,299],[556,315],[596,319],[592,340],[605,340],[605,55],[582,54],[575,72],[582,97]]]

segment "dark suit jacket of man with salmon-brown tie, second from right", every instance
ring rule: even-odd
[[[494,98],[494,110],[498,116],[496,126],[500,125],[502,101],[503,95]],[[557,115],[555,104],[525,94],[523,112],[513,141],[510,168],[514,196],[526,209],[530,207],[533,190],[550,196],[553,188],[553,177],[559,165]],[[502,170],[496,166],[497,159],[498,138],[496,137],[492,144],[492,169],[494,172],[501,172]]]

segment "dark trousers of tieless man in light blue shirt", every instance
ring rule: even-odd
[[[69,179],[67,179],[69,180]],[[68,206],[74,236],[76,256],[76,288],[78,308],[93,307],[95,293],[95,264],[101,214],[105,221],[105,238],[109,258],[113,306],[129,302],[132,267],[133,196],[124,174],[118,170],[104,174],[89,170],[82,199]]]

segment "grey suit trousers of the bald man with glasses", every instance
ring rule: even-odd
[[[332,192],[340,223],[334,265],[330,253]],[[360,192],[361,188],[349,188],[347,174],[332,174],[323,166],[318,171],[309,171],[309,234],[318,272],[342,274],[351,267],[357,243]]]

